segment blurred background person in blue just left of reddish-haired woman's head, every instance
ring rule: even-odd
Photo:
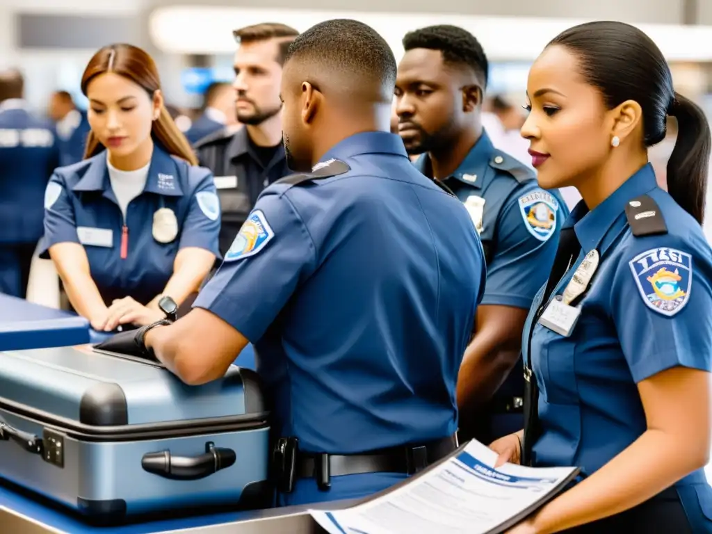
[[[60,163],[80,162],[90,130],[87,114],[77,108],[68,91],[55,91],[49,100],[48,115],[57,130]]]

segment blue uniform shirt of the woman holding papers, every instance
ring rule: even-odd
[[[632,234],[624,209],[644,194],[659,206],[666,234]],[[639,382],[677,366],[712,370],[712,252],[700,225],[657,187],[650,165],[592,211],[578,204],[566,226],[573,226],[582,252],[552,298],[587,253],[598,251],[600,264],[568,337],[534,327],[531,362],[543,434],[533,461],[580,466],[588,476],[646,431]],[[687,488],[680,492],[686,508],[712,513],[703,470],[678,486]]]

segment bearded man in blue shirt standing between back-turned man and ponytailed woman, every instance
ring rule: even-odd
[[[477,39],[456,26],[431,26],[408,33],[403,45],[399,133],[410,154],[423,154],[416,166],[464,202],[485,248],[487,287],[457,397],[461,438],[488,443],[523,424],[521,373],[500,386],[518,360],[524,321],[552,266],[567,210],[483,131],[488,61]]]

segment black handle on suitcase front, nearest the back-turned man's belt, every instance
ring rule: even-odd
[[[235,463],[237,455],[232,449],[205,444],[205,454],[199,456],[172,456],[171,451],[149,452],[143,455],[144,471],[171,480],[198,480]]]

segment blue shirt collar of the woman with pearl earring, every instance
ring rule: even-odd
[[[573,226],[585,253],[600,248],[600,246],[607,248],[609,243],[604,238],[619,217],[624,214],[627,202],[651,192],[656,187],[653,167],[651,164],[646,164],[592,211],[588,210],[584,201],[576,204],[563,227]],[[603,253],[604,250],[599,252]]]

